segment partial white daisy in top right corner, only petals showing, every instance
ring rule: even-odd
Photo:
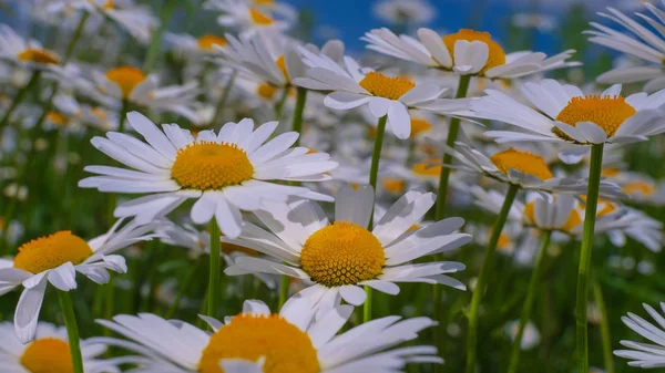
[[[656,31],[661,31],[665,27],[665,12],[647,2],[644,2],[644,7],[649,10],[653,17],[644,13],[635,14]],[[649,93],[665,89],[665,75],[663,74],[665,39],[663,34],[654,33],[613,8],[607,8],[607,13],[600,12],[598,15],[620,24],[628,32],[615,31],[597,22],[591,22],[593,29],[585,31],[586,34],[591,35],[589,41],[626,53],[644,61],[645,64],[611,70],[601,74],[596,81],[603,84],[646,82],[644,91]]]

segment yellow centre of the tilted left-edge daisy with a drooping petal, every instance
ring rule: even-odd
[[[88,242],[69,230],[61,230],[23,244],[14,258],[13,267],[31,273],[40,273],[68,261],[78,265],[91,255],[92,249]]]

